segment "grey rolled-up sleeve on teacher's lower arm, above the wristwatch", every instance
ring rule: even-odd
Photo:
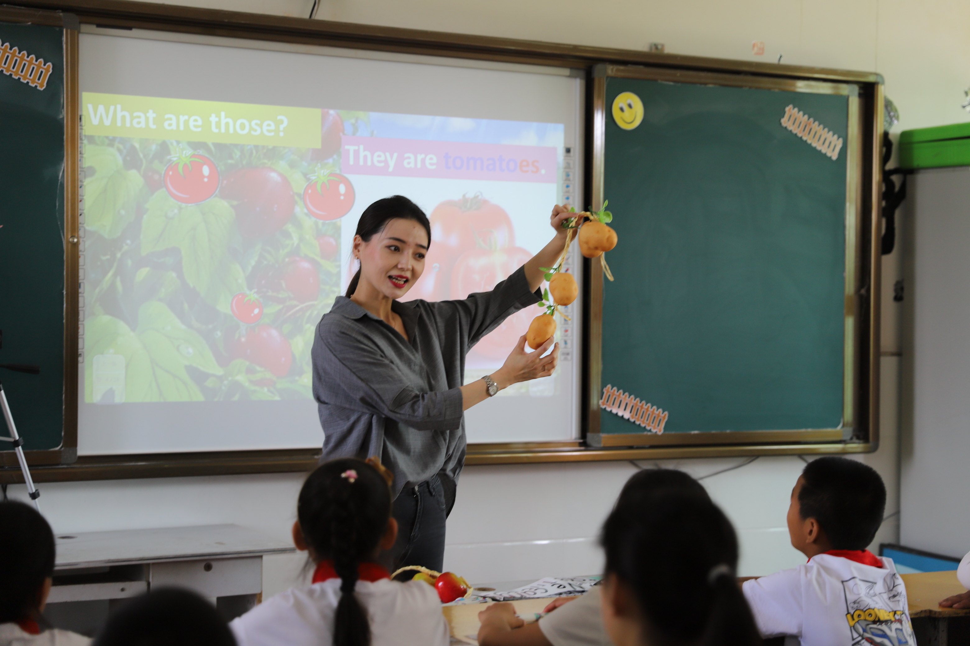
[[[346,330],[326,336],[317,330],[316,341],[317,403],[384,415],[421,431],[450,431],[461,425],[461,388],[418,392],[407,385],[394,361],[367,338]]]

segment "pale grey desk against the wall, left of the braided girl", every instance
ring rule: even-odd
[[[119,600],[180,586],[214,600],[228,617],[263,592],[263,556],[292,544],[238,525],[63,534],[44,614],[57,628],[92,634]]]

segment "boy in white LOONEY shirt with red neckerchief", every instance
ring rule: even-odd
[[[892,561],[866,549],[883,522],[883,478],[855,460],[810,462],[792,489],[792,546],[808,563],[745,581],[763,636],[802,646],[914,644],[906,588]]]

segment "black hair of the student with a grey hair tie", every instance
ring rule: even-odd
[[[761,643],[734,578],[737,537],[710,499],[667,489],[621,502],[600,542],[606,573],[635,596],[651,644]]]

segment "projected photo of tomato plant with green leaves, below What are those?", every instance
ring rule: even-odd
[[[311,397],[309,347],[339,293],[345,126],[319,148],[87,136],[84,401]]]

